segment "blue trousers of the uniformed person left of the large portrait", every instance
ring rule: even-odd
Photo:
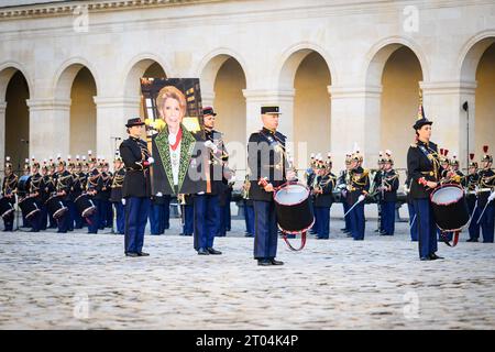
[[[148,198],[130,197],[125,199],[125,253],[142,252],[148,209]]]

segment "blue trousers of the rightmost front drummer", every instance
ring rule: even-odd
[[[427,257],[437,252],[437,224],[428,198],[414,200],[416,222],[418,223],[419,257]]]

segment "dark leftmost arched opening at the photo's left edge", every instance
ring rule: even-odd
[[[13,73],[13,72],[12,72]],[[6,90],[6,156],[11,157],[12,165],[20,172],[29,156],[30,114],[26,99],[30,90],[24,75],[14,70]]]

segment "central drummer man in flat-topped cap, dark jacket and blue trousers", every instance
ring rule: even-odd
[[[248,145],[248,165],[252,170],[250,198],[255,213],[254,258],[258,265],[282,265],[275,260],[278,231],[273,191],[295,175],[286,173],[286,136],[276,131],[278,107],[262,107],[261,114],[263,129],[251,134]]]

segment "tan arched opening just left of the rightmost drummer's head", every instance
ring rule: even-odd
[[[406,167],[421,80],[421,65],[409,47],[400,46],[389,55],[382,74],[380,145],[393,152],[396,168]]]

